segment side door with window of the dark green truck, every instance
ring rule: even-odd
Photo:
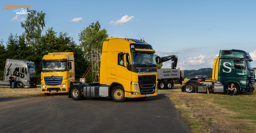
[[[240,83],[241,88],[246,88],[247,70],[244,60],[233,60],[232,79]]]

